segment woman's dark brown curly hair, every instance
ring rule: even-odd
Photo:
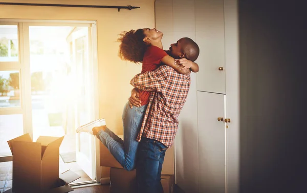
[[[142,62],[147,50],[147,44],[143,41],[145,38],[143,29],[124,31],[119,35],[121,36],[117,39],[121,42],[119,57],[134,63]]]

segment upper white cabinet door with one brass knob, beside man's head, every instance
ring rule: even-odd
[[[195,0],[195,35],[200,47],[197,90],[225,94],[223,0]]]

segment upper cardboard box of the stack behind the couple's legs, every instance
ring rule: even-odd
[[[119,135],[123,139],[122,135]],[[100,166],[123,168],[120,163],[114,158],[114,156],[108,151],[108,149],[100,142]],[[162,175],[174,174],[174,152],[173,148],[168,148],[165,153],[163,167],[161,171]]]

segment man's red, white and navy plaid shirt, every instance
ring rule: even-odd
[[[149,103],[137,141],[147,137],[171,147],[178,128],[178,116],[189,92],[190,74],[182,75],[164,65],[136,75],[130,84],[150,93]]]

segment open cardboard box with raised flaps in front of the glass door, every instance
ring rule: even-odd
[[[59,147],[63,138],[39,136],[32,142],[30,135],[25,134],[8,141],[13,155],[12,192],[62,193],[73,190],[67,184],[80,178],[78,175],[66,171],[62,174],[63,179],[59,178]]]

